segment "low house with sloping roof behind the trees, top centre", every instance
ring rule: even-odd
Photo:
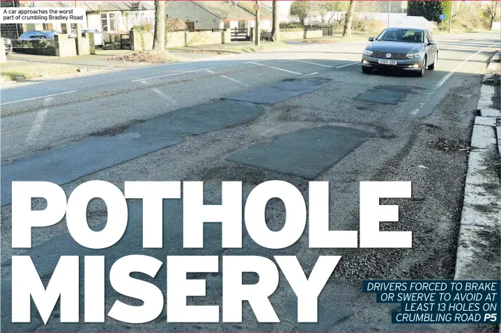
[[[256,17],[252,1],[168,1],[167,17],[182,19],[191,31],[210,29],[251,29]],[[261,29],[270,30],[272,13],[260,8]]]

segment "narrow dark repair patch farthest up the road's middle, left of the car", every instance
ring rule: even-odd
[[[277,104],[296,96],[329,86],[331,79],[290,79],[271,86],[257,88],[225,97],[234,101],[247,101],[255,104]]]

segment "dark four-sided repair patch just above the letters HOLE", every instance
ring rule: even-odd
[[[315,179],[374,134],[348,127],[303,129],[256,143],[227,161]]]

